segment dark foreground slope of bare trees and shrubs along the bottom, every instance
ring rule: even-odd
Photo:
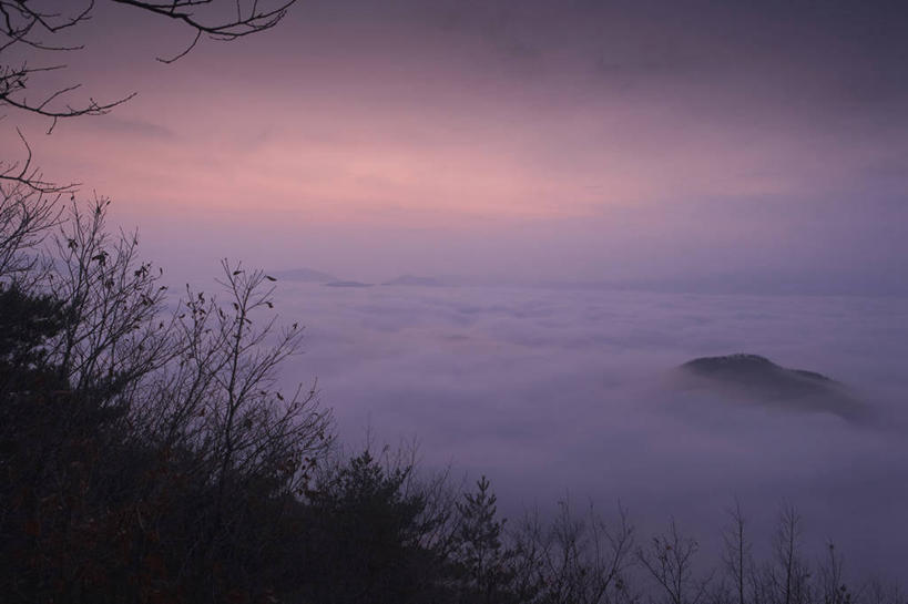
[[[18,184],[0,204],[4,602],[906,601],[832,544],[804,554],[792,509],[759,539],[741,506],[716,519],[714,567],[683,526],[637,534],[624,510],[506,523],[484,478],[345,452],[314,387],[276,389],[302,329],[268,275],[225,260],[220,291],[177,297],[108,202]]]

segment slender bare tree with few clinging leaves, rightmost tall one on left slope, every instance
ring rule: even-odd
[[[277,369],[298,351],[303,330],[293,324],[275,332],[276,317],[255,327],[256,314],[274,308],[274,287],[265,286],[274,278],[227,260],[222,267],[225,277],[218,283],[231,298],[229,307],[205,313],[201,320],[214,317],[214,327],[201,346],[191,341],[208,359],[215,387],[203,409],[210,439],[205,446],[220,460],[216,478],[222,489],[236,471],[276,472],[282,489],[297,492],[316,453],[329,444],[330,424],[329,414],[317,410],[315,385],[300,383],[286,397],[276,389]],[[198,332],[197,303],[204,304],[204,298],[190,303],[195,311],[194,334]],[[269,342],[272,336],[276,337]]]

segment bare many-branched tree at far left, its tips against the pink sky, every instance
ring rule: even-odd
[[[106,231],[108,199],[73,202],[55,237],[48,288],[65,301],[53,360],[75,392],[114,403],[134,399],[143,378],[175,355],[162,318],[161,272],[137,257],[137,233]]]

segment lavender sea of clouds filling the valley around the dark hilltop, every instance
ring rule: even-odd
[[[812,552],[834,540],[856,572],[901,571],[904,298],[278,286],[282,320],[306,326],[284,378],[317,377],[351,447],[367,429],[381,442],[416,439],[425,469],[487,474],[511,518],[565,496],[608,516],[620,501],[645,536],[673,515],[707,555],[735,498],[757,553],[792,504]],[[853,426],[671,379],[684,361],[732,352],[840,380],[883,420]]]

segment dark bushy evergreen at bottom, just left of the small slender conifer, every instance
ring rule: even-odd
[[[442,602],[447,520],[415,467],[368,450],[331,465],[308,491],[298,571],[310,602]],[[427,538],[429,540],[427,541]]]

